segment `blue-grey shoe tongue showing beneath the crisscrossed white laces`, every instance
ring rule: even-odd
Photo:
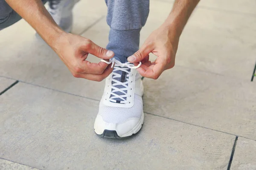
[[[124,58],[124,57],[123,57]],[[119,62],[122,62],[122,63],[124,63],[124,62],[127,62],[127,59],[125,58],[124,59],[124,61],[122,61],[121,59],[119,59],[118,57],[115,57],[115,59],[116,60],[118,60]],[[130,69],[128,70],[128,71],[130,71]],[[125,72],[125,71],[120,71],[120,70],[118,70],[118,71],[115,71],[115,73],[117,73],[117,74],[120,74],[121,75],[121,77],[117,77],[117,78],[114,78],[114,79],[116,79],[117,81],[119,81],[119,82],[127,82],[126,81],[126,76],[127,76],[127,73]],[[112,82],[112,85],[113,85],[113,83],[115,83],[115,82]],[[115,85],[114,87],[116,87],[116,88],[125,88],[123,85]],[[112,91],[113,91],[113,89],[112,89]],[[125,93],[127,93],[127,91],[125,91]],[[120,91],[117,91],[117,92],[114,92],[114,94],[117,94],[117,95],[124,95],[122,92],[120,92]],[[111,95],[111,97],[112,97],[113,95]],[[124,99],[126,100],[126,97],[124,97]],[[120,103],[120,101],[123,101],[123,99],[120,99],[120,98],[114,98],[113,100],[116,100],[116,103]]]

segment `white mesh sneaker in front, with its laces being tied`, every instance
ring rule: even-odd
[[[102,60],[102,62],[106,62]],[[137,133],[143,125],[143,83],[132,63],[118,58],[113,72],[106,78],[105,90],[94,123],[96,134],[107,138],[124,138]]]

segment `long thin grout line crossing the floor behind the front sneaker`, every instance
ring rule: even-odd
[[[0,77],[1,77],[1,76],[0,76]],[[6,77],[6,78],[8,78],[8,77]],[[9,79],[12,79],[12,78],[9,78]],[[80,95],[77,95],[77,94],[71,94],[71,93],[68,93],[68,92],[65,92],[65,91],[59,91],[59,90],[52,89],[52,88],[47,88],[47,87],[44,87],[44,86],[41,86],[41,85],[35,85],[35,84],[29,83],[29,82],[23,82],[23,81],[21,81],[21,80],[17,80],[15,83],[13,83],[12,85],[10,85],[9,88],[11,88],[11,86],[14,86],[15,84],[17,84],[17,82],[22,82],[22,83],[24,83],[24,84],[33,85],[33,86],[40,87],[40,88],[46,88],[46,89],[49,89],[49,90],[52,90],[52,91],[58,91],[58,92],[60,92],[60,93],[69,94],[69,95],[72,95],[72,96],[78,96],[78,97],[82,97],[82,98],[85,98],[85,99],[89,99],[89,100],[93,100],[93,101],[96,101],[96,102],[100,102],[100,101],[97,100],[97,99],[92,99],[92,98],[85,97],[85,96],[80,96]],[[195,125],[195,124],[192,124],[192,123],[180,121],[180,120],[177,120],[177,119],[172,119],[172,118],[165,117],[165,116],[156,115],[156,114],[153,114],[153,113],[148,113],[148,112],[144,112],[144,113],[150,114],[150,115],[153,115],[153,116],[162,117],[162,118],[165,118],[165,119],[170,119],[170,120],[177,121],[177,122],[181,122],[181,123],[185,123],[185,124],[188,124],[188,125],[193,125],[193,126],[201,127],[201,128],[204,128],[204,129],[213,130],[213,131],[216,131],[216,132],[226,133],[226,134],[233,135],[233,136],[239,136],[239,137],[242,137],[242,138],[245,138],[245,139],[250,139],[250,138],[247,138],[247,137],[244,137],[244,136],[240,136],[240,135],[236,135],[236,134],[233,134],[233,133],[223,132],[223,131],[221,131],[221,130],[215,130],[215,129],[211,129],[211,128],[209,128],[209,127],[204,127],[204,126],[200,126],[200,125]],[[250,140],[256,141],[255,139],[250,139]]]

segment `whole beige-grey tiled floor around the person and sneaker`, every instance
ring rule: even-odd
[[[163,23],[172,2],[151,1],[141,45]],[[140,133],[127,140],[101,139],[93,132],[104,82],[73,78],[24,20],[0,31],[0,76],[20,80],[0,96],[0,158],[47,170],[224,170],[237,135],[231,168],[255,169],[256,84],[250,82],[255,5],[199,3],[180,38],[175,68],[158,80],[143,80],[149,114]],[[103,0],[81,0],[72,32],[105,47],[106,10]],[[0,77],[0,91],[13,82]],[[1,166],[30,168],[0,159]]]

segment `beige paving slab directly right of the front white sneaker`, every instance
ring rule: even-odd
[[[144,79],[145,112],[256,139],[256,84],[183,67]]]

